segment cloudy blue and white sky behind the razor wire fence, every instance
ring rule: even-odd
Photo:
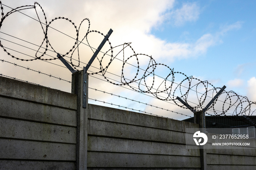
[[[4,4],[4,14],[10,11],[11,8],[34,5],[34,1],[31,0],[1,0],[1,2]],[[97,30],[104,35],[107,34],[110,28],[113,30],[109,38],[113,47],[123,43],[131,43],[130,46],[136,54],[152,56],[156,63],[165,64],[174,72],[182,72],[188,77],[193,76],[202,81],[208,81],[215,87],[221,88],[225,85],[227,87],[226,91],[232,90],[241,96],[247,96],[250,101],[256,101],[256,76],[254,74],[256,72],[256,1],[74,0],[70,3],[68,0],[38,0],[37,2],[44,10],[48,23],[52,19],[61,16],[68,18],[79,27],[82,20],[88,18],[90,20],[90,30]],[[38,5],[36,5],[36,9],[40,20],[44,21],[44,16]],[[38,46],[44,40],[44,34],[40,23],[34,20],[37,19],[35,9],[24,9],[22,12],[26,15],[15,12],[4,20],[0,28],[0,40],[3,46],[11,49],[8,52],[15,57],[31,59],[27,55],[35,56],[36,52],[31,49],[38,50]],[[76,38],[76,31],[73,24],[67,20],[59,19],[54,20],[50,26],[48,39],[51,46],[60,54],[67,53],[75,43],[73,38]],[[87,29],[88,23],[86,20],[81,24],[79,40],[83,39]],[[90,46],[95,49],[97,49],[102,39],[102,35],[94,32],[88,36]],[[23,40],[26,40],[26,42]],[[86,65],[85,63],[90,60],[95,51],[85,45],[88,44],[86,41],[83,42],[84,44],[79,45],[81,68]],[[23,45],[23,47],[20,45]],[[106,52],[108,49],[110,49],[110,45],[107,43],[102,51]],[[117,55],[122,50],[122,46],[114,49],[114,54]],[[126,47],[116,58],[128,59],[133,54],[132,49]],[[41,48],[40,51],[43,52],[44,50]],[[19,61],[10,57],[3,49],[0,49],[0,54],[0,59],[4,60],[0,62],[0,74],[71,92],[71,84],[67,82],[71,81],[71,72],[59,59],[49,61],[51,63],[39,59]],[[56,57],[56,53],[50,50],[46,54],[43,57],[45,59],[51,56]],[[103,53],[100,53],[98,58],[100,59],[102,55]],[[70,54],[68,56],[70,57]],[[75,51],[72,58],[78,59],[77,51]],[[109,58],[109,56],[103,58],[104,66],[109,62]],[[69,61],[68,58],[66,59]],[[6,61],[29,69],[15,66]],[[146,69],[150,62],[149,57],[145,55],[141,55],[138,61],[142,69]],[[73,62],[78,64],[75,60]],[[129,58],[128,62],[137,66],[137,61],[134,58]],[[97,59],[92,66],[89,71],[97,72],[100,68]],[[108,68],[109,73],[106,73],[105,76],[113,78],[114,81],[120,81],[118,76],[121,76],[122,66],[123,62],[117,59],[114,60]],[[80,70],[82,70],[81,68]],[[157,66],[154,88],[163,82],[161,77],[168,76],[169,68],[161,65]],[[30,69],[34,69],[40,74]],[[124,66],[125,78],[134,78],[136,70],[136,67],[126,64]],[[53,76],[57,78],[53,78]],[[139,76],[143,76],[143,73],[140,72]],[[89,103],[120,109],[136,109],[137,111],[178,120],[188,118],[184,115],[193,116],[191,111],[178,107],[173,101],[162,101],[152,94],[140,94],[132,91],[129,86],[120,87],[103,80],[104,78],[101,75],[89,77],[89,88],[91,88],[89,98],[97,100],[89,100]],[[182,75],[175,77],[178,84],[182,80],[184,80]],[[150,83],[152,84],[153,77],[148,76],[145,81],[151,86]],[[186,85],[186,82],[184,82],[184,85]],[[191,98],[189,98],[192,105],[196,102],[195,97],[196,94],[192,93]],[[219,106],[219,108],[222,109],[222,106]],[[233,111],[230,111],[229,115],[232,113]]]

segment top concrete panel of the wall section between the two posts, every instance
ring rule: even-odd
[[[158,116],[146,115],[125,111],[121,109],[103,107],[89,104],[88,119],[106,120],[117,123],[141,125],[145,127],[154,127],[166,130],[185,132],[185,128],[197,128],[197,124],[168,119]]]

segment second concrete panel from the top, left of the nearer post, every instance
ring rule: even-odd
[[[25,100],[0,97],[0,116],[76,127],[76,111]]]

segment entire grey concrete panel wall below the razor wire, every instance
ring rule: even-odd
[[[0,169],[201,169],[203,156],[202,169],[256,168],[256,140],[202,152],[185,145],[185,129],[198,124],[83,108],[81,77],[72,77],[76,94],[0,77]]]

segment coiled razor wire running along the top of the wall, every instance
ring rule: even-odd
[[[69,20],[68,18],[64,18],[64,17],[57,17],[57,18],[54,18],[54,19],[52,19],[52,20],[49,22],[49,24],[48,24],[48,23],[47,23],[47,19],[46,19],[46,15],[45,15],[45,13],[44,13],[44,10],[42,9],[42,7],[41,7],[38,3],[34,3],[34,6],[33,6],[33,5],[25,5],[25,6],[17,7],[17,8],[15,8],[15,9],[12,9],[11,11],[7,12],[6,15],[4,15],[4,13],[3,13],[3,6],[2,6],[1,1],[0,1],[0,5],[1,5],[1,9],[2,9],[0,28],[1,28],[2,24],[3,24],[4,19],[7,18],[10,14],[12,14],[12,13],[14,13],[14,12],[16,12],[16,11],[19,11],[19,12],[20,12],[21,10],[34,8],[34,9],[35,9],[35,12],[37,13],[36,5],[38,5],[38,6],[40,7],[40,9],[41,9],[41,11],[42,11],[42,13],[43,13],[43,15],[44,15],[44,18],[45,18],[45,25],[46,25],[46,29],[45,29],[45,30],[44,30],[44,27],[42,26],[42,23],[41,23],[41,21],[40,21],[40,19],[39,19],[38,13],[37,13],[37,17],[38,17],[39,22],[40,22],[40,24],[41,24],[42,30],[43,30],[43,32],[44,32],[44,34],[45,34],[45,38],[44,38],[44,40],[43,40],[41,46],[39,47],[39,49],[42,47],[42,45],[44,44],[44,42],[46,43],[45,51],[44,51],[44,53],[42,53],[41,56],[39,56],[39,57],[37,56],[37,53],[38,53],[38,51],[39,51],[39,49],[38,49],[37,53],[35,54],[35,58],[34,58],[34,59],[20,59],[20,58],[18,58],[18,57],[15,57],[14,55],[10,54],[10,53],[8,52],[7,48],[5,48],[5,47],[2,45],[1,41],[0,41],[0,46],[4,49],[4,51],[5,51],[8,55],[10,55],[11,57],[16,58],[16,59],[18,59],[18,60],[21,60],[21,61],[32,61],[32,60],[35,60],[35,59],[41,59],[41,60],[46,60],[46,61],[47,61],[47,60],[57,59],[57,57],[55,57],[55,58],[46,58],[46,59],[44,58],[44,59],[43,59],[42,56],[44,56],[44,55],[46,54],[46,51],[47,51],[47,49],[48,49],[49,46],[50,46],[50,48],[51,48],[54,52],[56,52],[56,51],[54,50],[54,48],[51,46],[51,44],[50,44],[50,42],[49,42],[49,40],[48,40],[47,31],[48,31],[48,28],[50,27],[50,24],[53,23],[54,21],[58,20],[58,19],[67,20],[67,21],[70,22],[70,23],[75,27],[75,29],[76,29],[76,33],[77,33],[76,35],[77,35],[77,37],[76,37],[76,42],[75,42],[74,46],[73,46],[66,54],[64,54],[64,55],[61,56],[61,57],[64,57],[64,56],[68,55],[69,53],[71,53],[70,63],[71,63],[71,65],[72,65],[75,69],[76,69],[76,67],[79,67],[79,65],[80,65],[80,60],[79,60],[79,45],[82,43],[82,41],[83,41],[84,39],[86,39],[88,45],[90,46],[90,44],[89,44],[89,42],[88,42],[88,39],[87,39],[87,35],[88,35],[89,33],[91,33],[91,32],[96,32],[96,33],[101,34],[102,36],[104,36],[104,35],[103,35],[101,32],[99,32],[99,31],[95,31],[95,30],[89,31],[89,30],[90,30],[90,21],[89,21],[89,19],[87,19],[87,18],[82,20],[82,22],[80,23],[78,29],[77,29],[76,25],[75,25],[71,20]],[[86,32],[86,35],[83,37],[82,41],[79,42],[79,41],[78,41],[79,30],[80,30],[81,24],[82,24],[84,21],[87,21],[87,22],[89,23],[89,27],[88,27],[88,30],[87,30],[87,32]],[[176,105],[178,105],[178,106],[181,107],[181,108],[186,108],[186,107],[185,107],[184,105],[180,105],[180,104],[177,103],[176,98],[174,98],[174,96],[175,96],[174,94],[175,94],[177,91],[179,91],[179,92],[180,92],[180,95],[179,95],[180,98],[184,99],[184,100],[185,100],[185,103],[188,103],[189,100],[187,100],[187,99],[188,99],[188,97],[189,97],[189,92],[190,92],[190,91],[194,91],[194,92],[196,92],[196,96],[197,96],[197,100],[198,100],[198,104],[193,107],[193,109],[196,109],[196,110],[198,110],[198,109],[203,109],[203,104],[204,104],[204,102],[206,101],[206,97],[207,97],[207,94],[208,94],[208,93],[212,92],[212,96],[214,96],[214,93],[217,93],[217,89],[220,89],[220,88],[215,88],[215,87],[214,87],[212,84],[210,84],[208,81],[201,81],[201,80],[199,80],[199,79],[197,79],[197,78],[194,78],[194,77],[192,77],[192,76],[188,77],[188,76],[185,75],[184,73],[181,73],[181,72],[174,72],[174,69],[170,69],[170,67],[168,67],[167,65],[161,64],[161,63],[156,63],[155,60],[154,60],[151,56],[149,56],[149,55],[146,55],[146,54],[137,54],[137,53],[135,53],[135,51],[132,49],[130,43],[124,43],[124,44],[123,44],[123,66],[122,66],[122,70],[121,70],[121,83],[116,84],[116,82],[112,82],[108,77],[106,77],[105,74],[106,74],[106,70],[108,70],[108,67],[109,67],[110,64],[112,63],[113,59],[115,59],[115,58],[117,57],[117,56],[113,56],[113,49],[115,49],[116,47],[120,47],[121,45],[118,45],[118,46],[116,46],[116,47],[112,47],[112,45],[111,45],[111,43],[109,42],[109,40],[108,40],[108,43],[109,43],[109,45],[110,45],[110,49],[109,49],[106,53],[103,54],[103,56],[102,56],[101,59],[98,59],[100,71],[99,71],[99,72],[96,72],[96,73],[93,73],[93,74],[99,74],[99,73],[101,73],[102,76],[103,76],[108,82],[110,82],[110,83],[112,83],[112,84],[120,85],[120,86],[128,85],[130,88],[132,88],[132,89],[135,90],[135,91],[142,92],[142,93],[151,93],[151,94],[153,94],[153,96],[155,96],[155,97],[158,98],[159,100],[166,100],[166,101],[172,100]],[[49,46],[48,46],[48,45],[49,45]],[[127,59],[124,58],[124,48],[125,48],[124,46],[125,46],[125,47],[129,47],[130,50],[133,52],[133,55],[131,55],[131,56],[128,57]],[[75,51],[75,50],[78,51],[78,61],[79,61],[79,62],[78,62],[78,65],[74,65],[74,63],[72,63],[72,55],[74,54],[74,51]],[[91,50],[93,50],[93,49],[91,48]],[[110,53],[111,53],[110,61],[109,61],[108,65],[107,65],[106,67],[103,67],[103,66],[102,66],[103,57],[104,57],[109,51],[110,51]],[[57,52],[56,52],[56,53],[57,53]],[[118,53],[118,54],[119,54],[119,53]],[[148,57],[148,58],[149,58],[148,66],[147,66],[146,69],[144,69],[145,72],[144,72],[144,74],[143,74],[142,77],[137,77],[137,76],[139,75],[139,71],[140,71],[139,58],[138,58],[139,55],[143,55],[144,57]],[[137,66],[137,72],[136,72],[135,77],[134,77],[131,81],[128,81],[127,77],[124,76],[124,67],[125,67],[125,64],[128,64],[128,60],[131,59],[131,58],[135,58],[135,59],[136,59],[138,66]],[[154,89],[153,89],[154,82],[155,82],[155,74],[154,74],[154,72],[155,72],[155,69],[156,69],[158,66],[165,66],[167,69],[170,70],[170,73],[167,75],[166,78],[164,78],[164,80],[163,80],[162,83],[159,85],[159,87],[157,88],[157,90],[154,90]],[[147,83],[146,83],[146,77],[148,77],[148,76],[151,75],[151,74],[153,74],[153,82],[152,82],[151,85],[147,85]],[[176,75],[176,74],[185,77],[184,80],[180,82],[180,84],[174,83],[174,77],[175,77],[174,75]],[[170,78],[171,78],[171,80],[169,80]],[[192,81],[193,81],[193,82],[192,82]],[[137,88],[137,89],[135,89],[135,88],[133,88],[133,87],[131,86],[131,84],[132,84],[133,82],[139,82],[139,85],[138,85],[138,88]],[[171,82],[171,84],[167,85],[167,82]],[[194,82],[196,82],[196,83],[194,83]],[[188,83],[188,84],[189,84],[189,85],[188,85],[188,88],[187,88],[188,90],[181,89],[181,88],[183,87],[182,84],[184,84],[184,83]],[[176,84],[177,86],[174,86],[174,84]],[[146,85],[147,90],[141,89],[141,88],[140,88],[140,85]],[[161,89],[160,89],[161,86],[163,86],[164,89],[161,90]],[[204,93],[201,93],[201,92],[197,91],[197,88],[199,88],[199,86],[204,86],[204,88],[205,88],[205,92],[204,92]],[[210,89],[209,89],[209,87],[210,87]],[[139,90],[138,90],[138,89],[139,89]],[[174,89],[174,90],[173,90],[173,89]],[[193,89],[195,89],[195,90],[193,90]],[[160,93],[167,93],[168,96],[165,97],[165,98],[162,98],[161,96],[159,96]],[[237,105],[236,105],[236,108],[234,109],[234,112],[233,112],[233,115],[234,115],[234,116],[238,116],[238,115],[241,115],[241,114],[245,114],[246,116],[249,116],[250,114],[252,115],[252,114],[255,112],[255,110],[254,110],[254,111],[251,111],[251,105],[255,105],[256,103],[255,103],[255,102],[252,102],[252,101],[249,101],[247,97],[240,96],[240,95],[236,94],[236,93],[233,92],[233,91],[226,92],[226,91],[224,90],[224,92],[222,93],[222,96],[223,96],[224,94],[226,95],[226,97],[225,97],[225,100],[224,100],[224,102],[223,102],[221,115],[225,115],[225,114],[227,113],[227,111],[228,111],[231,107],[235,106],[235,104],[237,104]],[[234,98],[234,97],[235,97],[236,99],[235,99],[235,101],[232,101],[231,98]],[[215,115],[219,115],[219,114],[215,111],[215,104],[217,103],[217,101],[218,101],[218,98],[217,98],[217,100],[216,100],[216,101],[211,105],[211,107],[210,107],[210,108],[213,109],[213,112],[214,112]],[[228,108],[227,108],[227,109],[224,109],[226,104],[228,105]],[[246,104],[246,105],[243,106],[243,104]],[[209,109],[210,109],[210,108],[209,108]],[[187,108],[186,108],[186,109],[187,109]],[[238,109],[240,109],[240,111],[238,111]]]

